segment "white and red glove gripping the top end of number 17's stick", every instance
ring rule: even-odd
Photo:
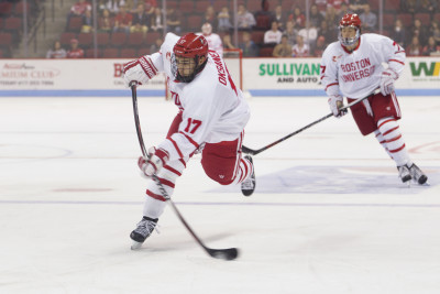
[[[157,74],[157,70],[150,57],[142,56],[124,64],[123,73],[124,85],[129,88],[131,81],[135,81],[139,85],[145,84]]]

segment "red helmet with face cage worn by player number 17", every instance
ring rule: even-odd
[[[208,59],[208,42],[202,35],[189,33],[182,36],[173,47],[172,56],[172,73],[177,80],[189,83],[198,73],[200,73]],[[183,76],[178,72],[176,56],[185,58],[194,58],[196,67],[191,75]],[[205,62],[199,64],[200,58],[204,57]]]

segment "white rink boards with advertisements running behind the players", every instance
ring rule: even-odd
[[[127,90],[122,65],[128,59],[0,59],[0,96],[117,96]],[[319,58],[244,58],[243,88],[254,96],[322,96]],[[239,63],[228,63],[237,76]],[[234,78],[237,81],[237,77]],[[396,83],[398,95],[439,95],[440,58],[409,57]],[[164,96],[160,75],[141,95]]]

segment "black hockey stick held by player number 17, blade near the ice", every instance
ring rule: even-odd
[[[136,84],[131,83],[131,95],[132,95],[132,100],[133,100],[133,113],[134,113],[134,122],[136,126],[136,132],[138,132],[138,140],[139,144],[141,145],[141,151],[142,155],[145,157],[147,156],[146,150],[145,150],[145,144],[144,140],[142,138],[142,132],[141,132],[141,123],[139,120],[139,111],[138,111],[138,95],[136,95]],[[168,193],[165,190],[164,186],[161,183],[161,179],[154,174],[152,176],[153,181],[156,183],[162,196],[166,199],[166,202],[170,205],[173,208],[174,213],[177,215],[178,219],[184,224],[185,228],[189,231],[189,233],[196,239],[197,243],[204,248],[204,250],[212,258],[216,259],[223,259],[223,260],[234,260],[239,255],[239,250],[237,248],[228,248],[228,249],[211,249],[205,246],[205,243],[200,240],[200,238],[194,232],[191,227],[189,227],[188,222],[186,222],[185,218],[182,216],[180,211],[177,209],[177,206],[174,204],[174,202],[170,199]]]

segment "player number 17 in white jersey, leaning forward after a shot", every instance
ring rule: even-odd
[[[221,185],[240,184],[250,196],[255,188],[251,156],[242,157],[244,127],[250,108],[235,87],[228,68],[201,35],[182,37],[168,33],[160,52],[142,56],[124,66],[124,83],[145,84],[157,73],[167,76],[172,98],[179,111],[166,139],[140,157],[139,167],[146,176],[155,174],[169,196],[175,183],[196,152],[201,152],[206,174]],[[139,248],[154,230],[163,214],[165,198],[150,181],[143,218],[130,237]]]

